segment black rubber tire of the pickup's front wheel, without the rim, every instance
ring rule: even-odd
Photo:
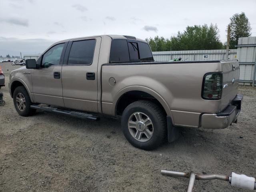
[[[22,94],[22,96],[24,96],[24,99],[25,99],[25,107],[24,107],[24,109],[22,108],[23,110],[20,110],[18,108],[18,105],[16,102],[16,97],[19,93]],[[24,86],[19,86],[14,90],[13,103],[14,103],[14,107],[15,107],[16,111],[21,116],[26,117],[26,116],[34,115],[36,113],[36,109],[30,108],[30,106],[32,105],[32,102],[31,102],[30,96],[28,95],[28,92]]]

